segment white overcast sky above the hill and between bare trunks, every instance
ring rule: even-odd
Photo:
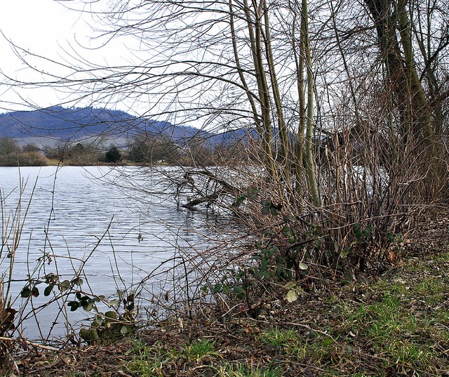
[[[332,11],[333,1],[317,3],[310,27],[312,37],[316,37],[312,38],[312,67],[321,117],[326,114],[328,118],[322,119],[332,122],[337,106],[352,114],[348,82],[353,82],[360,93],[361,111],[368,112],[371,102],[366,93],[382,82],[377,37],[368,14],[363,12],[362,4],[351,1],[338,2],[338,11]],[[140,0],[4,1],[0,13],[0,31],[4,35],[0,34],[0,73],[22,84],[8,85],[0,75],[0,112],[58,104],[95,105],[139,116],[155,115],[177,124],[188,121],[192,126],[253,124],[246,91],[236,85],[241,79],[234,62],[226,2],[197,0],[185,5],[179,0],[169,4]],[[90,6],[98,15],[89,13]],[[236,15],[241,15],[235,18],[241,71],[246,74],[248,88],[257,91],[246,20],[238,5],[234,9]],[[112,12],[102,13],[107,10]],[[424,22],[425,13],[420,12]],[[335,15],[337,27],[329,19],[331,14]],[[273,8],[270,34],[276,52],[277,81],[284,115],[295,127],[298,101],[290,29],[293,20],[297,20],[296,13],[282,6]],[[445,40],[438,30],[447,28],[440,15],[432,22],[436,35],[432,43],[437,44]],[[295,25],[298,32],[297,22]],[[107,38],[95,38],[100,32],[92,27],[119,29],[121,35],[114,34],[114,39],[100,47]],[[338,44],[342,45],[345,62],[337,48],[336,30],[342,37]],[[23,50],[15,55],[8,39]],[[417,46],[415,55],[422,71]],[[438,57],[444,65],[445,56],[441,51]]]

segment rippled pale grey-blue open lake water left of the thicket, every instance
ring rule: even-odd
[[[40,266],[40,276],[55,273],[61,280],[72,279],[82,260],[88,258],[83,277],[93,293],[108,296],[116,288],[147,277],[176,249],[201,247],[203,237],[192,230],[204,227],[206,218],[181,211],[159,173],[141,173],[138,167],[0,167],[6,218],[16,212],[20,182],[26,182],[21,196],[22,219],[29,204],[15,253],[13,298],[19,296],[27,275],[36,276],[32,272],[35,266]],[[133,182],[138,185],[133,187]],[[7,254],[4,248],[0,259],[4,279],[10,262]],[[44,256],[46,263],[39,264]],[[41,295],[33,298],[34,307],[48,302],[42,294],[45,286],[38,285]],[[13,307],[24,303],[19,297]],[[23,322],[22,330],[30,338],[48,336],[55,310],[56,303],[37,314],[40,333],[35,319]],[[69,313],[71,321],[80,319],[82,312]],[[50,336],[64,334],[63,322]]]

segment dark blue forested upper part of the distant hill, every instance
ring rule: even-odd
[[[188,126],[175,126],[166,121],[133,117],[120,110],[93,107],[70,108],[55,106],[43,110],[0,114],[0,137],[57,138],[73,140],[91,135],[107,138],[133,138],[142,132],[164,133],[172,140],[192,138],[207,133]],[[207,136],[206,136],[207,137]]]

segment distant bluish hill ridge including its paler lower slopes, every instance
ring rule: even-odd
[[[102,139],[103,145],[126,147],[142,134],[165,135],[177,145],[201,140],[206,147],[229,146],[255,137],[255,130],[236,129],[213,133],[198,128],[174,125],[168,121],[134,117],[121,110],[95,107],[48,107],[41,110],[0,114],[0,138],[14,138],[20,145],[54,146],[60,142],[86,143]]]

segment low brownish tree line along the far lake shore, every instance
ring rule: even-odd
[[[210,145],[203,138],[192,138],[182,145],[166,135],[141,134],[128,145],[105,147],[102,140],[76,143],[60,142],[54,146],[20,145],[14,138],[0,138],[0,166],[98,165],[98,164],[172,164],[204,166],[239,161],[250,143],[234,140],[226,145]]]

